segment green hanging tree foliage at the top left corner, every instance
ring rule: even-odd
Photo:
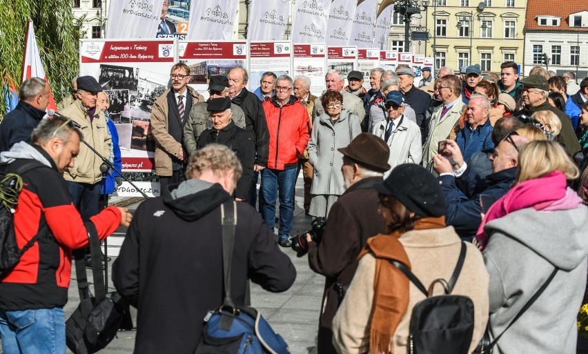
[[[41,61],[56,101],[68,92],[79,71],[79,30],[71,0],[0,0],[0,77],[19,89],[28,19],[35,26]],[[0,119],[6,102],[0,97]]]

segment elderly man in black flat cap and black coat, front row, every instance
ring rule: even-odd
[[[251,188],[251,180],[253,179],[255,138],[253,137],[253,132],[249,132],[244,126],[238,127],[235,125],[232,119],[234,113],[231,107],[231,99],[228,99],[228,97],[208,101],[206,110],[210,114],[212,129],[206,129],[202,132],[197,148],[204,148],[208,144],[222,144],[237,153],[243,173],[237,180],[235,199],[237,201],[246,201],[249,197],[249,188]]]

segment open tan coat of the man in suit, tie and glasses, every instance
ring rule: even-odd
[[[186,86],[187,92],[192,95],[192,106],[198,102],[204,102],[204,97],[190,86]],[[151,109],[151,130],[155,138],[155,174],[158,176],[171,176],[172,156],[177,158],[182,144],[168,133],[168,93],[166,90],[155,99]]]

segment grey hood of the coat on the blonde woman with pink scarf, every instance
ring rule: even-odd
[[[538,211],[525,208],[486,224],[494,231],[516,239],[554,266],[571,271],[584,262],[588,252],[588,207]]]

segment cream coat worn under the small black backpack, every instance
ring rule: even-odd
[[[461,239],[453,226],[429,230],[413,230],[400,237],[400,242],[411,261],[411,271],[428,287],[433,280],[449,280],[458,262]],[[474,329],[469,348],[473,351],[482,339],[488,322],[488,272],[484,266],[482,253],[466,243],[467,253],[464,266],[453,288],[453,295],[466,295],[473,302]],[[375,257],[366,255],[360,260],[357,271],[343,302],[333,319],[333,345],[340,354],[367,353],[369,351],[370,316],[373,300],[373,279],[375,276]],[[435,295],[442,289],[435,287]],[[410,285],[409,309],[402,317],[393,336],[393,353],[407,352],[409,324],[412,308],[424,299],[414,284]]]

